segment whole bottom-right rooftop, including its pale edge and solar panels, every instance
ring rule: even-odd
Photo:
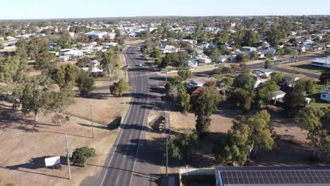
[[[216,174],[225,186],[330,185],[330,167],[219,167]]]

